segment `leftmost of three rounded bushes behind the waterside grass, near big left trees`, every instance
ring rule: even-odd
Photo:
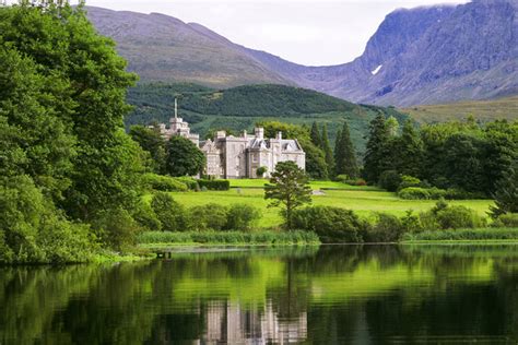
[[[157,192],[151,200],[151,209],[162,223],[165,231],[185,231],[188,229],[188,218],[184,207],[173,197],[165,192]]]

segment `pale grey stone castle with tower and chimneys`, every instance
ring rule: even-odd
[[[200,142],[198,134],[190,133],[189,123],[178,118],[178,105],[175,99],[175,117],[169,120],[169,128],[160,124],[164,139],[180,135],[193,142],[207,157],[205,175],[214,178],[259,178],[270,177],[280,162],[292,160],[298,167],[306,167],[306,154],[296,139],[282,139],[282,132],[275,138],[266,139],[264,129],[256,128],[254,135],[246,131],[240,136],[226,135],[225,131],[216,132],[212,140]],[[263,167],[266,172],[258,176],[257,170]]]

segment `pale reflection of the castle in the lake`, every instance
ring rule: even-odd
[[[280,319],[271,301],[263,308],[244,310],[238,304],[212,301],[207,310],[202,343],[287,344],[307,336],[307,314]]]

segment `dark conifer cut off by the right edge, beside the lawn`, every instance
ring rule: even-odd
[[[518,213],[518,164],[509,168],[496,183],[495,206],[491,206],[491,216],[496,218],[502,214]]]

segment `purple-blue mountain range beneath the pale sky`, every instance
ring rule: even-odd
[[[518,94],[518,0],[397,10],[354,61],[299,66],[162,14],[87,8],[143,81],[298,85],[356,103],[412,106]],[[348,35],[350,33],[337,33]]]

